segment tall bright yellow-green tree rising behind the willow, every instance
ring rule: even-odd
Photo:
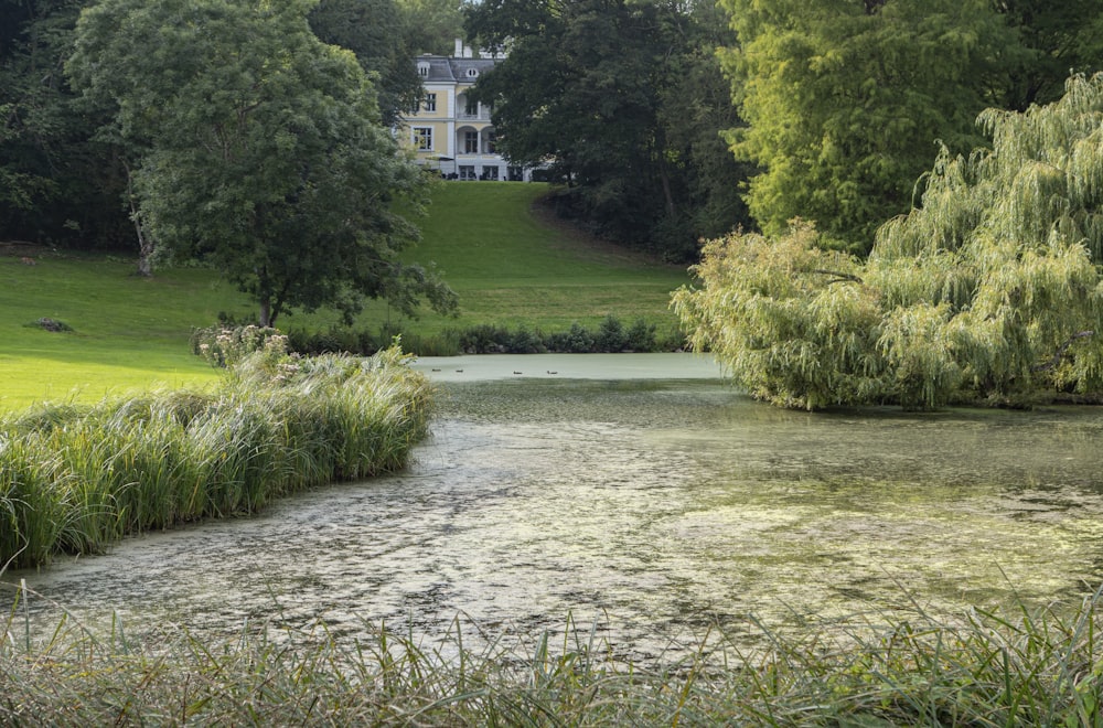
[[[906,212],[941,139],[967,150],[1000,64],[1025,63],[987,0],[720,0],[738,45],[725,67],[747,126],[737,158],[767,234],[793,217],[866,251]]]

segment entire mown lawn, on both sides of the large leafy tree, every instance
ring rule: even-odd
[[[595,243],[536,214],[542,184],[441,183],[429,215],[418,222],[422,242],[410,251],[435,261],[460,295],[460,315],[426,312],[405,320],[374,302],[356,328],[385,323],[432,335],[443,329],[493,323],[554,331],[575,321],[596,324],[612,313],[674,326],[670,292],[688,280],[684,268]],[[255,307],[213,270],[158,270],[133,275],[133,263],[107,256],[20,248],[0,255],[0,410],[42,400],[95,402],[109,395],[164,387],[203,387],[218,374],[191,354],[196,328],[219,312],[239,319]],[[42,318],[71,332],[29,325]],[[328,312],[295,314],[282,329],[328,329]]]

